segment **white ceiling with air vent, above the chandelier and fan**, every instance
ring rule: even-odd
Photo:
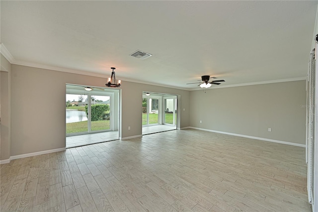
[[[0,1],[10,62],[196,89],[307,74],[318,1]],[[135,50],[153,54],[145,60]],[[216,86],[216,85],[213,85]]]

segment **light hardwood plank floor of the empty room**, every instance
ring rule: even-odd
[[[310,212],[305,148],[187,129],[1,165],[7,211]]]

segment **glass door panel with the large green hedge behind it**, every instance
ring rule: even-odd
[[[110,97],[90,96],[90,130],[110,129]]]

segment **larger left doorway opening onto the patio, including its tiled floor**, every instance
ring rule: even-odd
[[[119,139],[119,90],[66,84],[66,148]]]

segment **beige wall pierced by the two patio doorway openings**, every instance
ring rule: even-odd
[[[65,147],[65,85],[104,87],[108,76],[12,65],[11,77],[11,156],[15,156]],[[182,96],[180,106],[189,106],[189,91],[130,82],[123,82],[120,88],[123,138],[142,134],[142,91],[178,94]],[[188,109],[181,112],[181,127],[189,125],[188,117]]]

